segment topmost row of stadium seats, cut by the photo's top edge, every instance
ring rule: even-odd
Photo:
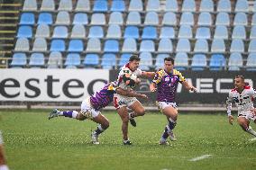
[[[25,0],[23,5],[23,11],[84,11],[84,12],[109,12],[109,11],[157,11],[161,10],[172,11],[172,12],[196,12],[197,4],[194,0],[184,0],[181,8],[178,7],[177,0],[166,0],[165,4],[160,4],[160,0],[148,0],[143,1],[146,3],[142,3],[142,0],[113,0],[108,3],[107,0],[78,0],[77,4],[73,4],[72,0],[59,0],[58,3],[55,4],[54,0],[42,0],[41,6],[37,4],[36,0]],[[126,4],[125,4],[126,3]],[[91,6],[92,5],[92,6]],[[212,0],[202,0],[200,3],[200,7],[198,8],[199,12],[244,12],[248,13],[249,5],[247,0],[237,0],[236,4],[231,3],[230,0],[219,0],[216,4]],[[233,11],[234,10],[234,11]],[[256,11],[256,4],[254,3],[252,11]]]

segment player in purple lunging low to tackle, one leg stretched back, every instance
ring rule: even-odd
[[[137,94],[133,91],[124,90],[123,88],[118,87],[114,82],[111,82],[106,84],[100,91],[96,92],[96,94],[87,97],[81,103],[81,110],[79,112],[59,112],[57,109],[54,109],[52,112],[50,112],[49,120],[54,117],[65,116],[68,118],[77,119],[79,121],[84,121],[86,119],[95,121],[96,123],[99,123],[99,125],[97,126],[96,130],[92,132],[92,143],[99,144],[99,134],[109,127],[109,121],[103,114],[101,114],[99,110],[105,108],[105,106],[113,102],[114,94],[122,94],[129,97],[148,98],[145,94]]]

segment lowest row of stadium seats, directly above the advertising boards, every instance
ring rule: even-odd
[[[49,68],[59,68],[62,67],[62,62],[64,60],[64,67],[66,68],[99,67],[99,65],[101,65],[101,67],[105,69],[111,69],[115,67],[123,67],[123,65],[128,62],[130,56],[131,54],[123,54],[120,59],[117,59],[113,53],[104,54],[102,58],[97,54],[87,54],[81,62],[81,57],[78,53],[69,53],[67,58],[63,58],[60,52],[54,51],[50,53],[49,58],[45,58],[43,53],[32,53],[28,64],[29,67],[44,67],[45,62],[47,61],[47,66]],[[152,54],[150,52],[142,52],[140,53],[140,58],[142,59],[140,67],[142,70],[162,67],[163,59],[168,56],[168,54],[159,54],[153,62]],[[190,65],[188,64],[190,63],[189,60],[191,60]],[[206,67],[209,67],[210,70],[224,70],[226,62],[227,61],[222,54],[213,54],[208,62],[206,55],[204,54],[195,54],[192,58],[188,58],[187,53],[180,52],[175,56],[175,66],[179,70],[186,70],[189,67],[191,67],[192,70],[198,71],[205,70]],[[26,54],[14,53],[11,67],[26,67],[26,65]],[[227,66],[229,70],[240,70],[244,66],[241,53],[232,53],[228,59]],[[246,69],[251,71],[256,70],[256,53],[251,53],[247,58]]]

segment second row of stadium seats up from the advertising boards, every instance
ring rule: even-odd
[[[49,44],[49,45],[48,45]],[[150,51],[150,52],[211,52],[211,53],[226,53],[226,52],[256,52],[256,39],[249,43],[248,50],[245,49],[244,42],[239,39],[234,39],[231,42],[230,48],[226,47],[222,39],[214,39],[210,44],[207,40],[196,40],[194,49],[188,39],[179,39],[176,43],[174,40],[160,39],[157,43],[153,40],[142,40],[140,43],[132,38],[120,40],[105,40],[91,38],[86,40],[69,40],[66,45],[65,40],[53,39],[47,43],[44,38],[36,38],[33,41],[32,49],[30,42],[26,38],[19,38],[16,42],[14,51],[75,51],[75,52],[135,52],[135,51]],[[209,48],[211,47],[211,48]]]

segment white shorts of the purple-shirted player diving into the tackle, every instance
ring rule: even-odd
[[[90,103],[90,97],[87,97],[82,103],[81,103],[81,113],[87,117],[87,119],[95,118],[100,113],[99,111],[96,111],[92,104]]]

